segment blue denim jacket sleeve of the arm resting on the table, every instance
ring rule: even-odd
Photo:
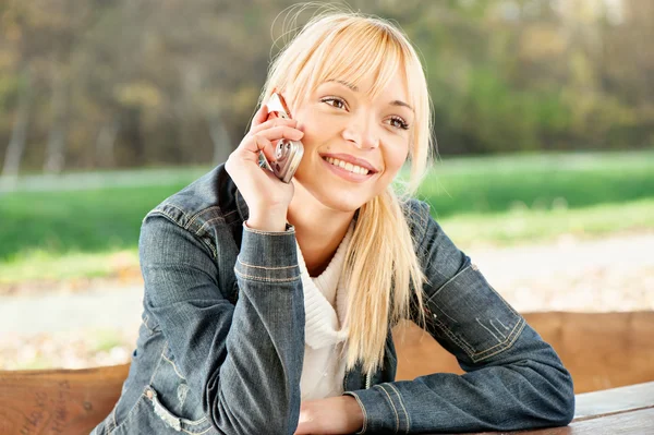
[[[568,424],[572,379],[544,342],[422,208],[419,256],[427,331],[463,375],[435,373],[347,391],[365,415],[361,433],[513,431]],[[424,229],[424,230],[423,230]],[[414,317],[416,318],[416,317]]]

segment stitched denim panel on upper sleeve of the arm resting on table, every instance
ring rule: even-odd
[[[525,325],[473,264],[436,290],[425,307],[434,338],[473,363],[509,349]]]

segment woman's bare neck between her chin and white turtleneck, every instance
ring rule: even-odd
[[[317,277],[327,268],[353,217],[354,212],[325,207],[299,183],[295,184],[287,218],[295,227],[295,239],[310,276]]]

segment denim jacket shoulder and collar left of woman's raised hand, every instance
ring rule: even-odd
[[[164,200],[143,220],[145,222],[149,217],[162,216],[197,233],[207,222],[240,218],[240,202],[242,197],[227,173],[225,164],[221,164]]]

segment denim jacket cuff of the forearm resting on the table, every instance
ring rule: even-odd
[[[354,397],[363,411],[363,428],[358,434],[409,433],[407,408],[400,392],[391,384],[378,384],[343,395]]]

